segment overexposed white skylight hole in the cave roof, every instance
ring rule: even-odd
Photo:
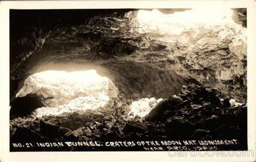
[[[139,10],[138,32],[158,32],[179,35],[186,29],[234,24],[230,8],[193,8],[183,12],[165,14],[157,9]]]

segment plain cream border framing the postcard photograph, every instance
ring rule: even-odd
[[[3,161],[87,161],[87,160],[254,160],[255,159],[255,6],[254,1],[46,1],[0,2],[1,50],[1,127],[0,160]],[[247,8],[247,86],[248,86],[248,150],[254,157],[170,157],[167,152],[9,152],[9,9],[115,9],[115,8],[193,8],[196,6],[228,6]]]

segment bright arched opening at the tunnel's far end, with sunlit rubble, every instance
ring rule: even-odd
[[[44,103],[45,107],[35,110],[36,117],[42,117],[104,107],[118,89],[95,70],[45,71],[30,75],[16,97],[28,94],[36,94]]]

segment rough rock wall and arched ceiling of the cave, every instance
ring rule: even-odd
[[[90,12],[75,23],[66,23],[73,17],[64,19],[57,14],[61,12],[52,11],[53,18],[42,13],[33,23],[23,22],[30,26],[11,36],[11,102],[31,74],[86,69],[96,69],[110,78],[134,100],[166,98],[189,83],[217,88],[240,102],[247,100],[246,28],[241,25],[200,26],[175,35],[141,31],[143,24],[138,22],[138,11],[133,10]],[[17,17],[15,14],[19,12],[11,16]],[[26,13],[31,14],[33,11]],[[55,14],[63,22],[53,23]],[[11,20],[14,34],[23,23]]]

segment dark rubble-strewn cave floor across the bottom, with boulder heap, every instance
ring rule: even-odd
[[[11,151],[143,151],[143,147],[108,147],[106,142],[237,139],[247,149],[247,105],[219,98],[220,92],[196,84],[154,106],[145,117],[129,117],[132,100],[119,95],[104,108],[59,116],[10,120]],[[83,147],[14,147],[12,143],[97,142]]]

